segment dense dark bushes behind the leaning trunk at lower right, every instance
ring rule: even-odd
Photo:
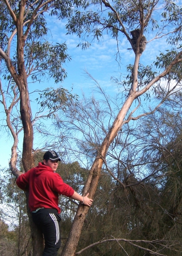
[[[178,98],[173,97],[173,100],[180,102],[180,94],[178,94]],[[124,168],[124,166],[122,168],[122,164],[129,161],[125,159],[124,151],[122,151],[122,161],[118,158],[118,163],[113,164],[117,160],[113,158],[111,162],[107,163],[112,163],[113,174],[127,185],[126,191],[106,170],[102,170],[94,203],[86,217],[77,251],[97,241],[125,238],[127,240],[155,241],[154,244],[142,241],[135,244],[156,252],[160,251],[164,255],[180,256],[181,112],[178,112],[177,116],[178,118],[167,108],[160,109],[160,112],[143,119],[143,122],[140,121],[139,133],[135,134],[137,141],[134,145],[128,141],[123,144],[118,141],[118,150],[122,145],[131,150],[131,155],[134,156],[133,159],[129,158],[130,163],[126,164],[126,166],[130,165],[130,169]],[[140,159],[138,160],[136,152],[140,141],[142,141],[143,149],[139,152]],[[129,155],[127,156],[129,157]],[[42,157],[43,152],[40,152],[38,162],[42,161]],[[118,170],[119,164],[121,167]],[[144,165],[144,172],[151,175],[140,183],[138,183],[139,176],[137,175],[139,164],[141,168]],[[128,177],[129,170],[132,170],[135,176]],[[81,193],[88,170],[81,168],[78,162],[61,162],[57,172],[66,183]],[[152,174],[154,175],[152,176]],[[12,195],[13,193],[9,193],[9,197],[13,197]],[[60,197],[60,207],[62,210],[62,246],[64,246],[77,205],[69,199]],[[84,251],[82,255],[119,256],[125,251],[133,256],[144,254],[144,250],[119,241],[94,246]]]

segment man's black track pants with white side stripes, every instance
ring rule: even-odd
[[[56,256],[61,245],[60,221],[56,209],[43,208],[32,213],[32,219],[42,231],[45,240],[43,256]]]

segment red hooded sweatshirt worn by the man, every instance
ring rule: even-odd
[[[37,208],[55,208],[60,213],[59,195],[71,197],[75,192],[72,187],[64,183],[59,174],[42,163],[39,163],[26,174],[20,175],[16,184],[21,189],[29,187],[28,204],[31,212]]]

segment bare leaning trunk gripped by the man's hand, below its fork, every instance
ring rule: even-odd
[[[137,81],[135,82],[135,86],[137,85]],[[107,134],[104,142],[101,145],[100,152],[98,152],[96,159],[92,165],[92,168],[89,172],[88,179],[86,181],[83,195],[89,192],[89,197],[93,198],[94,193],[97,189],[98,180],[101,175],[102,164],[104,163],[104,159],[106,157],[107,150],[110,144],[113,142],[114,138],[117,136],[118,131],[121,129],[123,119],[127,111],[129,110],[131,104],[135,100],[135,90],[130,90],[129,97],[127,98],[125,104],[117,115],[113,126],[111,127],[109,133]],[[72,224],[71,232],[69,233],[69,237],[67,243],[64,246],[61,256],[73,256],[75,255],[76,247],[80,238],[81,229],[84,224],[84,220],[86,214],[88,213],[89,207],[84,205],[79,205],[77,209],[77,213],[75,219]]]

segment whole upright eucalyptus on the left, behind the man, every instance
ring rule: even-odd
[[[0,3],[1,104],[6,116],[4,126],[8,127],[13,137],[10,168],[16,177],[20,166],[17,160],[18,136],[23,131],[22,163],[23,171],[27,172],[34,166],[33,125],[40,115],[45,117],[45,114],[32,116],[28,91],[30,84],[46,77],[51,77],[55,82],[63,80],[67,76],[63,64],[70,60],[64,42],[48,42],[46,15],[56,15],[58,19],[68,18],[72,13],[72,4],[72,1],[53,0],[4,0]],[[59,96],[60,105],[71,95],[63,88],[57,89],[53,94],[54,97]],[[40,112],[43,112],[43,108]],[[28,192],[26,196],[28,199]],[[41,255],[42,234],[36,230],[31,221],[30,210],[27,210],[34,255]]]

